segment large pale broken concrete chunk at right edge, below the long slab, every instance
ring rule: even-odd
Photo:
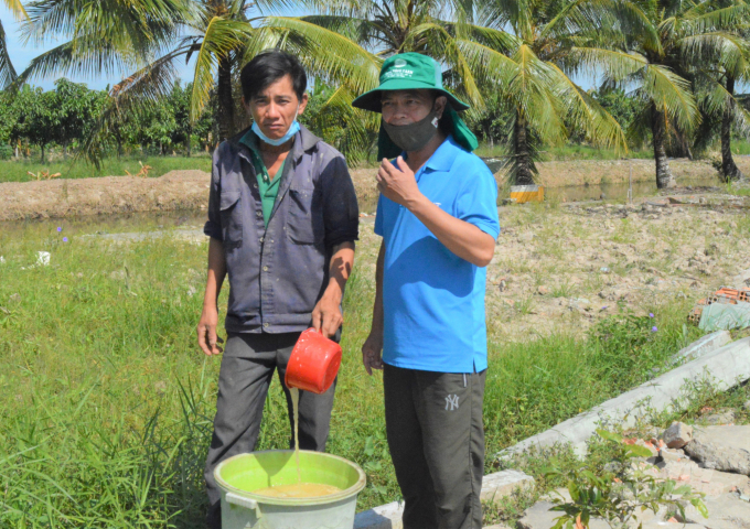
[[[685,452],[706,468],[750,476],[750,425],[696,427]]]

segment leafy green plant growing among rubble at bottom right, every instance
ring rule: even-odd
[[[687,485],[677,487],[673,479],[657,479],[639,464],[640,457],[652,455],[649,449],[626,444],[622,435],[613,432],[597,430],[597,433],[610,445],[614,456],[613,463],[603,471],[597,474],[586,463],[568,471],[555,466],[546,471],[548,478],[564,478],[570,494],[570,500],[559,494],[553,497],[555,507],[550,510],[562,512],[553,529],[588,528],[594,517],[606,520],[613,529],[624,529],[639,521],[640,514],[647,510],[657,514],[663,507],[679,512],[684,519],[687,504],[708,518],[703,494],[694,493]]]

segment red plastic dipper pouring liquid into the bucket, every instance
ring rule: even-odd
[[[324,393],[341,366],[341,346],[314,328],[300,335],[291,350],[283,382],[313,393]]]

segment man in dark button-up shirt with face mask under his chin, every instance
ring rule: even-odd
[[[207,521],[216,529],[221,493],[214,468],[255,450],[274,371],[293,430],[283,386],[291,349],[310,326],[339,336],[360,216],[344,158],[297,121],[308,102],[297,58],[264,52],[243,68],[240,80],[254,123],[214,153],[204,229],[211,237],[208,278],[197,326],[203,352],[222,353],[216,300],[228,274],[227,342],[205,469]],[[325,449],[334,390],[335,384],[323,395],[300,392],[300,449]]]

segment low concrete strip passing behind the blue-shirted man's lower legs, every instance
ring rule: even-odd
[[[480,497],[484,501],[494,501],[503,496],[510,496],[517,488],[534,486],[534,478],[518,471],[502,471],[488,474],[482,478]],[[403,529],[401,516],[404,504],[394,501],[381,505],[354,518],[354,529]]]

